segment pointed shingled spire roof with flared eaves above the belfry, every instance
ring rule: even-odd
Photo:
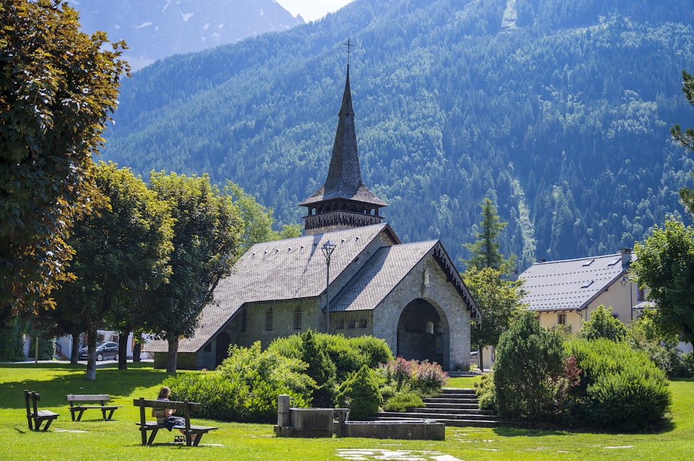
[[[342,95],[339,121],[335,132],[335,143],[332,145],[328,177],[321,189],[299,205],[308,207],[314,203],[334,198],[356,200],[379,207],[388,206],[386,202],[373,195],[373,192],[362,183],[362,170],[359,168],[359,154],[357,153],[357,134],[354,126],[352,92],[349,86],[349,67],[347,67],[345,90]]]

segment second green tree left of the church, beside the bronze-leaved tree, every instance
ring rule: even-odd
[[[106,318],[126,316],[169,276],[173,226],[168,203],[128,168],[101,162],[96,184],[108,206],[76,223],[69,239],[76,280],[56,291],[56,309],[74,313],[87,331],[90,381],[96,379],[96,329]]]

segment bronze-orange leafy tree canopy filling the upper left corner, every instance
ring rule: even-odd
[[[0,308],[53,308],[67,236],[99,203],[92,155],[115,110],[123,43],[79,30],[67,3],[0,3]]]

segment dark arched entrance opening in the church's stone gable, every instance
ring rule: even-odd
[[[440,308],[425,299],[409,302],[398,320],[398,356],[429,360],[448,369],[448,320]]]

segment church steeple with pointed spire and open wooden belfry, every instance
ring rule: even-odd
[[[307,216],[304,216],[307,235],[378,224],[383,219],[378,215],[378,210],[388,206],[362,182],[349,85],[349,64],[328,177],[321,189],[299,205],[308,209]]]

